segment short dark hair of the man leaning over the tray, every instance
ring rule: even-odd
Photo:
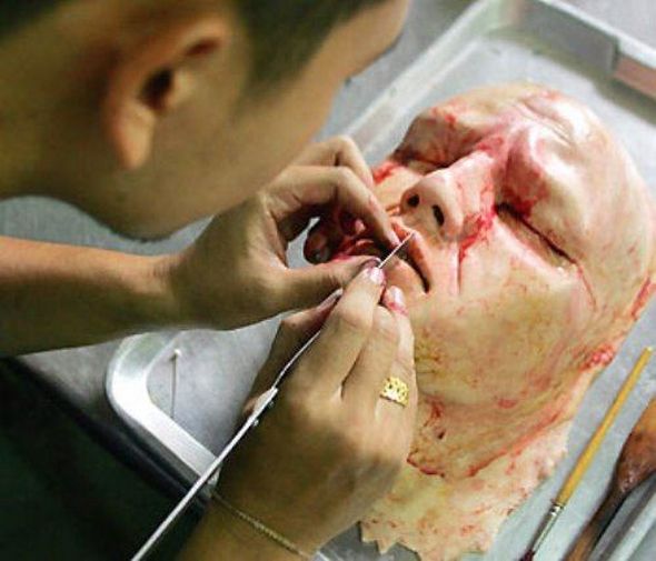
[[[0,34],[61,1],[0,0]],[[385,1],[232,0],[252,42],[251,84],[270,86],[294,76],[339,23]]]

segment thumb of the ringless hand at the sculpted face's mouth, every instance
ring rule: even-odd
[[[288,269],[281,301],[288,309],[317,305],[336,290],[346,288],[367,264],[374,267],[379,262],[371,256],[358,256],[304,269]]]

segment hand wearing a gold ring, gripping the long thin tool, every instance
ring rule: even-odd
[[[371,271],[358,276],[332,310],[327,304],[284,322],[255,394],[328,315],[276,407],[219,480],[223,499],[307,551],[357,522],[389,490],[410,449],[413,332],[400,290],[386,290]],[[406,408],[380,399],[389,375],[408,383]]]

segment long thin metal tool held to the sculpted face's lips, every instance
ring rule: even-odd
[[[411,233],[404,241],[397,246],[379,264],[378,269],[382,269],[389,261],[397,256],[404,248],[407,247],[410,239],[415,234]],[[176,508],[169,513],[169,515],[159,524],[157,530],[150,535],[150,538],[143,543],[141,549],[132,557],[131,561],[142,561],[147,559],[147,557],[155,550],[158,543],[165,538],[165,535],[169,532],[169,530],[176,524],[176,522],[180,519],[180,517],[186,512],[189,508],[189,504],[196,499],[198,493],[207,485],[207,483],[212,479],[212,477],[219,471],[219,468],[226,461],[230,452],[235,450],[237,444],[241,442],[243,437],[250,431],[250,429],[258,425],[260,417],[264,412],[274,405],[274,399],[279,392],[279,384],[282,379],[289,373],[289,371],[296,365],[298,360],[306,353],[306,351],[315,343],[315,341],[319,338],[321,331],[315,333],[297,352],[291,357],[289,362],[285,364],[280,373],[276,378],[276,382],[274,385],[265,392],[258,399],[252,412],[246,420],[246,422],[241,425],[241,428],[237,431],[237,433],[232,437],[230,442],[221,450],[219,455],[215,459],[215,461],[209,465],[209,468],[205,471],[200,478],[196,481],[193,487],[189,489],[187,494],[182,498],[182,500],[176,505]]]

